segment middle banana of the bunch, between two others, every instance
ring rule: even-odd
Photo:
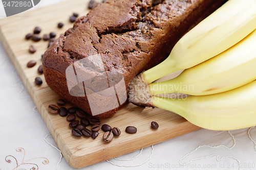
[[[256,30],[225,52],[184,70],[180,76],[148,87],[153,95],[207,95],[231,90],[256,79]]]

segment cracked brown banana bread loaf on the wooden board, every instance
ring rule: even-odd
[[[46,82],[63,98],[92,114],[87,96],[70,94],[66,80],[68,66],[101,54],[106,74],[121,74],[127,89],[139,72],[163,61],[182,35],[224,2],[109,0],[99,4],[87,16],[77,19],[74,27],[45,52],[42,65]],[[116,110],[96,117],[110,117]]]

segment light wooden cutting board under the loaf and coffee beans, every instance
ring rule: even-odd
[[[79,16],[89,12],[88,2],[89,0],[63,2],[0,20],[1,41],[67,162],[74,168],[80,168],[200,129],[175,113],[126,103],[113,117],[101,120],[101,125],[109,124],[121,130],[119,137],[114,137],[111,142],[106,143],[102,140],[102,130],[96,139],[75,137],[71,134],[66,117],[48,113],[49,104],[56,104],[56,100],[60,98],[47,86],[44,75],[37,73],[37,68],[41,64],[41,54],[46,51],[48,42],[33,42],[25,40],[24,37],[31,33],[35,26],[41,27],[40,35],[53,31],[59,36],[72,27],[69,16],[73,12],[78,12]],[[62,29],[57,28],[60,21],[65,23]],[[34,54],[28,52],[31,44],[37,48]],[[36,66],[27,68],[27,62],[32,59],[37,61]],[[37,76],[42,78],[41,86],[34,84]],[[69,108],[71,105],[66,107]],[[153,120],[159,124],[157,130],[151,129]],[[127,126],[137,127],[137,133],[127,134]]]

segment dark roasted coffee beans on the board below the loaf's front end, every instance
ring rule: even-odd
[[[119,128],[111,128],[111,126],[108,124],[103,124],[100,128],[100,120],[98,118],[89,115],[77,107],[70,107],[69,109],[63,107],[66,105],[65,100],[58,99],[56,103],[62,107],[59,108],[54,104],[49,105],[48,112],[52,114],[59,113],[59,115],[62,117],[67,116],[66,119],[69,122],[69,127],[72,128],[71,132],[76,137],[86,136],[95,139],[99,135],[99,131],[101,129],[104,132],[102,136],[103,141],[110,142],[114,136],[119,136],[121,134]],[[91,126],[91,128],[89,128],[89,126]],[[154,121],[151,122],[151,128],[158,129],[158,127],[158,123]],[[125,128],[125,132],[134,134],[137,132],[137,128],[134,126],[127,126]]]

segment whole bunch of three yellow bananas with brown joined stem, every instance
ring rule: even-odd
[[[153,81],[177,70],[178,77]],[[185,99],[160,97],[184,93]],[[130,83],[129,100],[173,111],[211,130],[256,125],[256,0],[229,0]]]

